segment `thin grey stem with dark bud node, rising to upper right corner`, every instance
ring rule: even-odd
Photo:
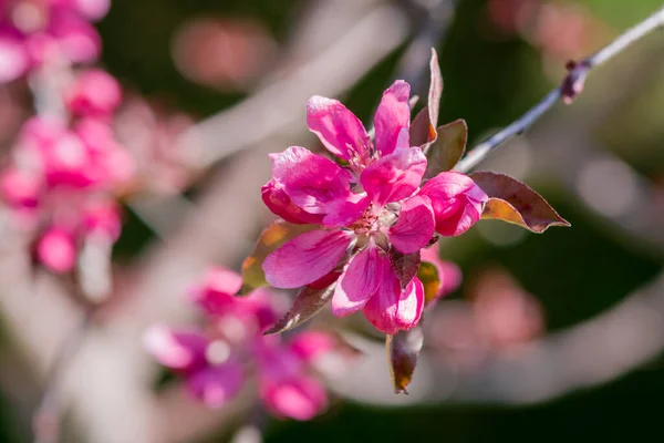
[[[591,54],[579,62],[570,62],[568,64],[569,72],[558,87],[549,92],[538,104],[528,110],[506,128],[475,146],[454,169],[463,173],[473,169],[496,147],[512,136],[523,133],[523,131],[530,127],[547,111],[553,107],[559,99],[562,99],[567,104],[573,102],[577,95],[583,90],[585,78],[593,68],[611,60],[629,45],[662,25],[664,25],[664,7],[653,12],[639,24],[623,32],[612,43],[602,48],[594,54]]]

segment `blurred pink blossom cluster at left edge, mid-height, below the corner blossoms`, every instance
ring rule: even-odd
[[[12,154],[0,193],[22,226],[39,233],[43,265],[66,272],[85,239],[115,241],[121,218],[113,192],[134,166],[106,123],[85,117],[70,128],[37,116],[24,124]]]

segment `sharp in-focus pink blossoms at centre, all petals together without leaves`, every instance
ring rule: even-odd
[[[297,288],[339,279],[332,311],[363,310],[394,334],[419,321],[425,305],[416,277],[419,251],[435,234],[458,236],[480,217],[487,194],[467,175],[443,172],[423,184],[427,157],[411,146],[411,87],[396,81],[374,117],[375,143],[336,100],[313,96],[307,122],[338,162],[299,146],[272,156],[266,205],[293,224],[317,224],[270,254],[266,280]],[[404,262],[413,261],[412,269]]]

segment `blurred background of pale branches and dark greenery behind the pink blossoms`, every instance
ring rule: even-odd
[[[60,426],[62,441],[230,441],[251,415],[250,395],[218,411],[183,398],[141,336],[155,321],[193,321],[183,293],[209,264],[239,268],[272,219],[259,196],[270,175],[267,154],[320,147],[307,131],[307,99],[339,97],[370,122],[395,79],[426,96],[433,45],[445,80],[439,121],[465,119],[473,146],[559,84],[568,60],[661,6],[113,0],[95,23],[100,64],[123,86],[114,127],[139,177],[122,195],[114,290],[89,324],[87,305],[68,296],[60,278],[34,270],[24,236],[1,223],[0,441],[32,441],[32,415],[63,346],[76,352],[50,394],[64,418],[40,424]],[[440,241],[464,281],[425,318],[409,395],[393,393],[383,344],[363,320],[335,320],[364,357],[329,382],[334,400],[325,414],[304,423],[261,420],[264,441],[656,437],[664,398],[663,55],[660,33],[639,42],[593,71],[572,106],[559,104],[478,167],[525,181],[572,228],[535,235],[483,222]],[[27,90],[20,81],[0,87],[2,164],[32,113]]]

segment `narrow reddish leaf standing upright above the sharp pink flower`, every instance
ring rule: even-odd
[[[411,123],[411,146],[421,146],[426,150],[428,144],[436,137],[436,125],[438,124],[438,110],[440,96],[443,95],[443,75],[438,65],[438,55],[432,48],[432,60],[429,62],[430,83],[427,105],[413,119]]]

